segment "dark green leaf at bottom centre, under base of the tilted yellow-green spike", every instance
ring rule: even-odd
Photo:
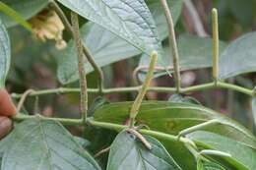
[[[152,144],[151,150],[135,136],[121,132],[111,144],[106,169],[181,170],[160,142],[148,136],[145,139]]]

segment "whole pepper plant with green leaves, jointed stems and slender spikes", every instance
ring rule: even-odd
[[[251,96],[255,110],[255,89],[224,80],[256,71],[253,47],[256,34],[245,34],[226,47],[219,42],[218,12],[213,9],[212,57],[196,56],[186,63],[186,56],[179,57],[186,49],[176,42],[174,32],[181,3],[179,0],[2,0],[0,88],[5,88],[11,63],[6,27],[17,22],[32,31],[26,20],[45,8],[57,14],[73,37],[58,54],[58,80],[62,85],[79,81],[80,87],[28,89],[23,94],[12,94],[13,99],[20,101],[16,115],[11,117],[14,129],[0,142],[0,169],[255,170],[255,136],[239,123],[181,94],[231,89]],[[79,18],[88,22],[80,27]],[[170,45],[162,46],[167,36]],[[205,40],[205,43],[211,41]],[[193,39],[187,43],[193,44]],[[138,55],[142,58],[134,75],[142,85],[104,87],[102,66]],[[206,61],[203,65],[201,59]],[[212,83],[181,86],[180,71],[207,67],[213,68]],[[97,88],[87,86],[87,74],[93,71],[98,78]],[[175,86],[151,86],[152,79],[160,75],[174,79]],[[148,91],[174,94],[168,101],[152,101],[144,99]],[[80,93],[81,118],[44,117],[21,111],[27,97],[74,92]],[[129,92],[137,93],[134,101],[100,100],[91,108],[88,106],[89,93],[104,96]],[[98,133],[75,137],[64,126],[82,127],[85,131],[95,129]],[[96,142],[109,139],[109,147],[97,153],[99,148],[90,150]],[[107,159],[98,158],[102,155],[107,155]]]

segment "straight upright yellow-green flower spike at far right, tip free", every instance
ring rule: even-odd
[[[213,9],[213,79],[218,82],[219,75],[219,26],[218,26],[218,11]]]

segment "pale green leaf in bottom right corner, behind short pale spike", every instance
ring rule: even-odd
[[[224,136],[198,131],[187,135],[188,138],[204,148],[216,149],[224,151],[231,155],[231,158],[223,159],[238,170],[256,169],[256,149],[251,148],[241,142],[234,141]]]

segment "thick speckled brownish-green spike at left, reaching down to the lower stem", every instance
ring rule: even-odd
[[[71,23],[73,26],[73,36],[75,39],[77,52],[78,52],[78,68],[80,77],[80,111],[82,120],[84,123],[87,121],[87,110],[88,110],[88,92],[87,92],[87,73],[84,67],[85,57],[83,52],[82,40],[80,39],[78,15],[71,12]]]

